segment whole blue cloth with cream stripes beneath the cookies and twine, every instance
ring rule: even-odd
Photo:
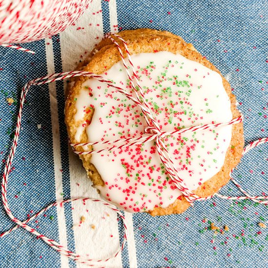
[[[63,33],[23,44],[31,55],[0,47],[0,163],[9,153],[20,90],[30,79],[71,71],[109,31],[168,30],[191,42],[230,82],[244,115],[246,144],[268,136],[268,2],[265,0],[93,0]],[[63,81],[34,86],[23,111],[19,147],[8,183],[14,215],[24,220],[56,199],[97,197],[68,147]],[[247,153],[234,178],[250,194],[268,191],[268,145]],[[221,193],[239,195],[230,182]],[[107,267],[267,267],[267,206],[214,198],[181,215],[125,213],[129,240]],[[81,222],[84,216],[85,221]],[[211,230],[211,223],[223,230]],[[0,204],[0,232],[14,224]],[[98,204],[67,204],[30,226],[78,253],[105,257],[122,241],[121,221]],[[225,226],[228,230],[224,230]],[[0,238],[0,267],[85,267],[18,229]]]

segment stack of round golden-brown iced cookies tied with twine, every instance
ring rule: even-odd
[[[240,116],[228,81],[191,44],[172,33],[151,29],[119,35],[127,41],[136,74],[162,132],[229,122]],[[118,49],[108,38],[78,68],[101,74],[132,92]],[[65,122],[72,143],[135,138],[144,135],[148,126],[133,101],[89,77],[74,79],[66,100]],[[207,197],[229,181],[231,169],[239,163],[243,125],[172,134],[163,141],[184,186]],[[154,141],[79,157],[101,197],[122,210],[155,216],[181,213],[189,207],[165,170]]]

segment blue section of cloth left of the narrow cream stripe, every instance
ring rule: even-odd
[[[0,49],[0,159],[1,174],[4,159],[9,153],[14,135],[18,113],[20,90],[28,80],[44,76],[47,73],[44,41],[25,44],[24,47],[36,51],[38,57],[16,53],[10,49]],[[27,96],[25,116],[22,117],[19,147],[12,165],[8,200],[11,211],[21,220],[27,219],[55,200],[51,117],[49,110],[48,86],[32,89]],[[15,100],[8,104],[6,98]],[[41,128],[38,129],[38,124]],[[14,168],[14,170],[13,170]],[[55,220],[51,220],[50,217]],[[48,216],[31,222],[38,228],[58,240],[57,211],[49,211]],[[0,231],[8,230],[14,224],[0,205]],[[36,250],[38,249],[38,250]],[[24,230],[17,230],[0,239],[0,267],[41,267],[48,262],[60,265],[57,252],[37,240]]]

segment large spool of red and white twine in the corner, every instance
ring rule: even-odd
[[[73,24],[91,0],[0,0],[0,43],[56,35]]]

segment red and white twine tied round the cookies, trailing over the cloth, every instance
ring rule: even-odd
[[[139,87],[139,91],[137,91],[135,89],[134,86],[134,82],[132,80],[132,76],[128,73],[129,79],[131,81],[131,85],[132,88],[134,89],[134,93],[136,95],[136,97],[132,96],[130,93],[128,93],[126,90],[115,86],[112,81],[110,80],[106,80],[104,77],[100,76],[100,75],[96,75],[90,72],[83,72],[83,71],[72,71],[72,72],[66,72],[66,73],[59,73],[59,74],[53,74],[53,75],[48,75],[45,77],[40,77],[40,78],[36,78],[33,79],[29,82],[27,82],[22,91],[21,91],[21,96],[20,96],[20,104],[19,104],[19,114],[18,114],[18,118],[17,118],[17,125],[16,125],[16,130],[15,130],[15,135],[14,135],[14,139],[13,139],[13,143],[11,146],[11,150],[10,153],[7,157],[6,160],[6,164],[5,164],[5,168],[4,168],[4,173],[3,173],[3,177],[2,177],[2,185],[1,185],[1,197],[2,197],[2,203],[3,203],[3,207],[6,211],[6,213],[8,214],[8,216],[10,217],[10,219],[16,223],[16,226],[13,227],[10,230],[7,230],[3,233],[0,234],[0,237],[4,237],[5,235],[9,234],[10,232],[12,232],[13,230],[18,229],[19,227],[22,227],[23,229],[33,233],[34,235],[37,236],[37,238],[42,239],[46,244],[48,244],[50,247],[52,247],[53,249],[57,250],[60,254],[67,256],[68,258],[74,259],[77,262],[86,264],[88,266],[96,266],[96,263],[98,263],[100,265],[101,262],[107,262],[108,260],[115,258],[119,252],[122,251],[122,249],[124,248],[125,242],[127,241],[127,226],[125,224],[125,218],[122,215],[122,213],[115,208],[115,206],[99,200],[99,199],[92,199],[92,198],[73,198],[73,199],[68,199],[68,200],[63,200],[63,201],[57,201],[53,204],[51,204],[50,206],[42,209],[41,211],[39,211],[38,213],[36,213],[35,215],[33,215],[32,217],[28,218],[25,221],[20,221],[19,219],[17,219],[13,213],[10,211],[9,205],[8,205],[8,201],[7,201],[7,183],[8,183],[8,177],[9,177],[9,173],[11,170],[11,165],[12,165],[12,161],[13,158],[15,156],[15,152],[18,146],[18,140],[19,140],[19,131],[21,128],[21,116],[22,116],[22,109],[23,109],[23,105],[24,105],[24,101],[25,101],[25,97],[30,89],[30,87],[32,85],[42,85],[42,84],[47,84],[50,82],[54,82],[57,80],[63,80],[65,78],[70,78],[70,77],[79,77],[79,76],[86,76],[86,77],[91,77],[91,78],[96,78],[97,80],[104,82],[108,85],[108,87],[113,87],[115,88],[118,92],[124,94],[125,96],[127,96],[129,99],[133,100],[135,104],[137,104],[141,110],[143,111],[145,118],[146,118],[146,122],[148,123],[148,126],[145,128],[145,135],[144,136],[140,136],[138,138],[128,138],[128,139],[119,139],[119,140],[115,140],[115,141],[101,141],[101,142],[95,142],[95,143],[76,143],[76,144],[71,144],[72,147],[77,147],[77,146],[86,146],[86,145],[97,145],[97,144],[101,144],[101,145],[107,145],[107,146],[111,146],[112,147],[107,147],[103,150],[113,150],[115,148],[121,148],[122,145],[118,145],[118,142],[120,141],[121,143],[124,142],[124,146],[131,146],[131,145],[137,145],[137,144],[141,144],[144,142],[147,142],[149,140],[156,140],[156,147],[157,147],[157,152],[159,153],[160,159],[163,162],[167,172],[169,173],[172,181],[174,182],[174,184],[177,186],[177,188],[182,191],[182,194],[186,197],[186,199],[189,201],[189,203],[191,204],[193,200],[206,200],[208,198],[211,198],[213,196],[218,196],[220,198],[224,198],[224,199],[230,199],[230,200],[240,200],[240,199],[250,199],[254,202],[258,202],[258,203],[263,203],[263,204],[268,204],[268,196],[251,196],[249,195],[245,190],[242,189],[242,187],[231,177],[231,172],[230,172],[230,178],[233,181],[233,183],[239,188],[240,191],[242,191],[245,196],[234,196],[234,197],[230,197],[230,196],[224,196],[221,195],[219,193],[215,193],[214,195],[211,195],[209,197],[199,197],[195,194],[193,194],[189,189],[185,188],[182,186],[182,179],[178,176],[178,172],[176,170],[176,168],[174,167],[174,163],[171,159],[171,156],[169,155],[167,148],[163,142],[163,137],[165,137],[166,135],[171,135],[171,134],[175,134],[175,133],[183,133],[183,132],[192,132],[192,131],[197,131],[197,130],[205,130],[205,129],[211,129],[211,128],[216,128],[219,126],[226,126],[226,125],[231,125],[231,124],[237,124],[237,123],[241,123],[242,122],[242,117],[238,117],[235,119],[232,119],[230,122],[226,122],[226,123],[216,123],[216,124],[206,124],[203,126],[192,126],[190,128],[186,128],[186,129],[181,129],[181,130],[176,130],[173,132],[161,132],[159,125],[157,124],[157,122],[155,121],[150,108],[145,100],[144,94],[142,92],[142,88],[139,86],[139,82],[138,82],[138,77],[135,75],[134,72],[134,65],[132,63],[131,60],[131,56],[130,53],[127,49],[127,43],[119,36],[114,35],[115,37],[119,38],[121,41],[123,41],[124,46],[125,46],[125,50],[127,53],[127,57],[128,60],[132,66],[132,70],[133,70],[133,76],[135,78],[135,81]],[[106,38],[110,38],[115,45],[118,47],[118,51],[121,55],[121,58],[123,60],[124,66],[127,70],[127,65],[124,61],[124,57],[123,57],[123,53],[122,50],[120,48],[120,45],[115,41],[114,38],[112,38],[111,34],[106,35]],[[127,70],[128,71],[128,70]],[[251,142],[243,151],[244,155],[245,153],[247,153],[250,149],[256,147],[259,144],[263,144],[265,142],[268,142],[268,137],[267,138],[262,138],[262,139],[258,139],[254,142]],[[116,145],[117,144],[117,145]],[[102,151],[89,151],[89,152],[78,152],[75,151],[75,153],[78,154],[85,154],[85,153],[99,153]],[[39,233],[37,230],[35,230],[34,228],[30,227],[27,225],[28,222],[30,222],[31,220],[37,218],[40,214],[44,213],[45,211],[47,211],[48,209],[52,208],[52,207],[56,207],[56,206],[62,206],[65,203],[68,202],[75,202],[77,200],[83,200],[83,201],[91,201],[91,202],[99,202],[101,204],[103,204],[104,206],[110,208],[111,210],[115,211],[119,217],[122,219],[123,221],[123,225],[124,225],[124,237],[123,237],[123,242],[121,244],[121,246],[118,248],[118,250],[109,258],[106,259],[90,259],[87,256],[82,256],[79,255],[75,252],[72,252],[71,250],[67,249],[66,247],[58,244],[56,241],[54,241],[51,238],[46,237],[45,235]]]

